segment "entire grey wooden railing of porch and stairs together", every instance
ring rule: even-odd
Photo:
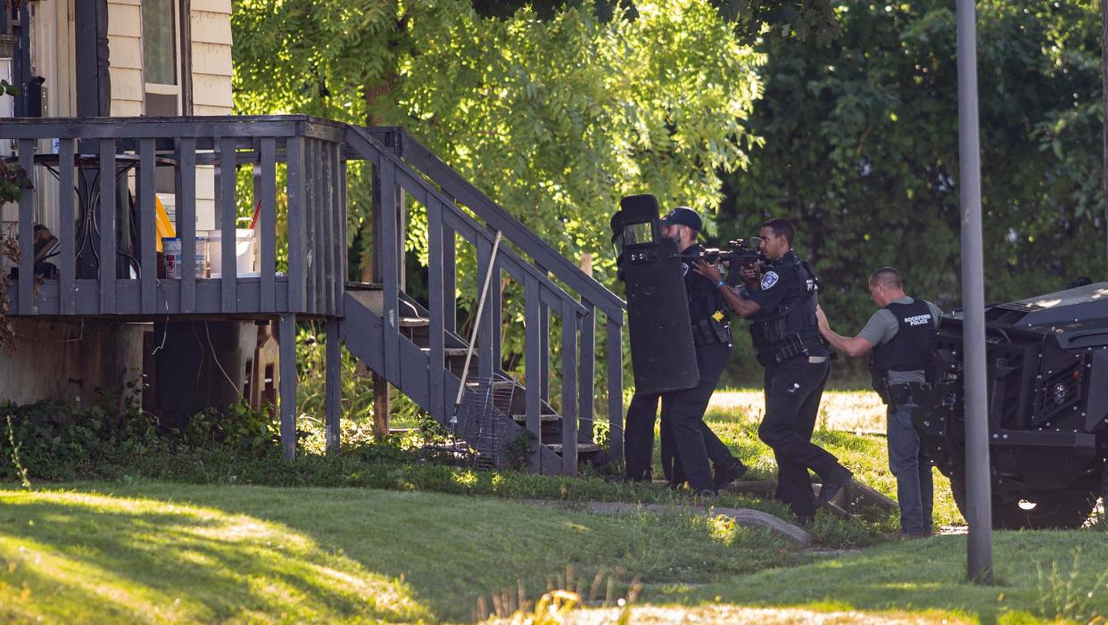
[[[402,130],[349,126],[304,115],[21,119],[0,124],[3,140],[14,141],[14,161],[40,180],[45,175],[41,170],[52,166],[60,187],[58,277],[39,285],[29,279],[35,266],[31,245],[23,245],[12,314],[278,316],[283,336],[295,336],[296,317],[315,316],[328,319],[329,337],[338,336],[348,267],[346,163],[363,160],[372,168],[375,244],[379,247],[375,250],[379,260],[376,269],[383,299],[379,372],[399,382],[401,390],[407,387],[410,395],[417,388],[409,385],[419,385],[418,392],[429,398],[431,413],[440,421],[447,417],[451,406],[445,386],[451,378],[447,375],[445,340],[459,331],[458,242],[468,243],[474,248],[479,275],[495,263],[494,284],[507,276],[522,286],[526,428],[538,440],[543,403],[551,399],[550,380],[556,378],[563,420],[562,469],[570,473],[576,470],[578,442],[593,439],[596,321],[603,315],[611,451],[622,457],[624,303]],[[222,235],[218,269],[224,277],[236,279],[204,278],[189,262],[179,265],[179,278],[160,279],[155,172],[157,167],[174,172],[176,235],[182,243],[181,256],[189,259],[196,252],[197,167],[205,165],[218,172],[214,194]],[[248,202],[237,196],[234,171],[240,167],[254,173]],[[116,180],[125,183],[107,182]],[[121,198],[116,194],[130,196],[132,186],[133,212],[130,201],[123,203],[127,208],[117,211],[116,199]],[[39,187],[24,189],[20,198],[20,242],[31,242],[34,224],[42,222],[39,192]],[[401,341],[407,340],[400,331],[404,247],[397,233],[402,230],[403,193],[427,209],[430,345],[425,377],[420,371],[401,380],[402,369],[411,371],[410,363],[401,362]],[[236,274],[239,205],[259,206],[254,226],[259,247],[257,276]],[[133,226],[120,218],[132,214],[136,215]],[[286,217],[283,224],[281,215]],[[129,234],[132,227],[134,243],[121,246],[119,240],[127,237],[119,235]],[[493,259],[496,230],[507,244]],[[90,264],[86,256],[95,262]],[[125,262],[116,263],[117,257]],[[278,257],[287,258],[281,270]],[[497,288],[490,289],[489,298],[478,320],[478,375],[491,379],[503,363],[500,330],[506,303],[501,301]],[[555,318],[561,326],[556,366],[550,350]],[[338,351],[332,350],[337,344],[331,342],[328,362],[337,371]],[[283,351],[283,358],[285,354],[291,351]],[[294,363],[288,360],[281,363],[283,379],[295,380]],[[337,445],[338,437],[337,375],[328,376],[329,445]],[[290,385],[283,385],[281,431],[287,454],[295,449],[294,402]],[[540,455],[536,449],[536,465]]]

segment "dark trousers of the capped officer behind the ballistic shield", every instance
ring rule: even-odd
[[[731,358],[731,348],[726,344],[712,344],[697,348],[697,368],[700,383],[691,389],[660,393],[635,393],[627,407],[627,419],[624,423],[624,458],[627,463],[627,477],[633,480],[648,481],[652,479],[652,462],[654,460],[654,423],[657,419],[658,400],[661,400],[661,465],[663,474],[670,483],[680,484],[686,481],[686,472],[680,453],[678,438],[688,437],[687,429],[674,428],[675,408],[678,421],[687,420],[688,414],[696,414],[696,427],[699,430],[699,457],[704,458],[704,471],[708,473],[708,485],[697,486],[689,480],[694,489],[712,488],[711,474],[708,472],[708,459],[717,465],[729,465],[732,461],[730,450],[708,424],[704,422],[704,412],[708,400],[716,390],[719,376],[722,375]],[[701,406],[702,404],[702,406]],[[699,410],[697,411],[697,407]],[[681,434],[678,434],[678,431]],[[696,452],[696,444],[685,448],[686,454]]]

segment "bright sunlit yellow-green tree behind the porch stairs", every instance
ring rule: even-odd
[[[403,125],[566,256],[602,253],[611,284],[620,195],[714,212],[720,175],[756,144],[742,122],[762,58],[733,24],[706,0],[633,9],[603,21],[592,2],[542,18],[465,0],[238,0],[236,112]]]

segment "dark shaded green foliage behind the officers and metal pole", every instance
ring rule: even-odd
[[[869,274],[961,301],[954,7],[847,1],[842,37],[767,38],[749,132],[765,144],[728,181],[720,238],[793,219],[832,327],[858,331]],[[1100,19],[1090,1],[977,2],[985,290],[989,301],[1104,275]]]

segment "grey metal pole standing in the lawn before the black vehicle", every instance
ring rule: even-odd
[[[970,580],[993,583],[993,508],[985,395],[985,288],[981,225],[981,141],[974,0],[957,0],[958,192],[962,201],[962,365],[966,420],[966,510]]]

